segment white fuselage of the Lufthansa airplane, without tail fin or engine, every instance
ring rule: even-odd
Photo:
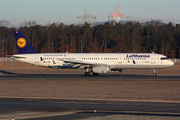
[[[86,67],[102,64],[110,66],[111,69],[159,69],[174,65],[174,62],[167,59],[166,56],[153,53],[36,53],[17,54],[13,55],[12,58],[51,68],[72,68],[74,66],[74,64],[67,64],[63,60],[95,63],[94,65],[85,65]],[[76,66],[78,65],[76,64]]]

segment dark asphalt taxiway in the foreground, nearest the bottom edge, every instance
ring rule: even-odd
[[[0,106],[0,119],[15,117],[16,120],[40,120],[42,118],[45,118],[45,120],[69,120],[111,115],[180,117],[180,103],[0,99]],[[27,113],[31,111],[46,114],[36,115],[31,113],[28,115]],[[19,115],[13,114],[14,112]],[[2,118],[2,114],[6,114],[7,117]]]

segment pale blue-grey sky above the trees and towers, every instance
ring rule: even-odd
[[[0,20],[20,25],[25,21],[37,24],[78,23],[84,9],[96,16],[97,22],[108,21],[108,13],[118,5],[123,20],[162,20],[180,23],[180,0],[0,0]]]

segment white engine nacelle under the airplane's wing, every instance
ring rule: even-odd
[[[109,66],[95,66],[93,67],[93,73],[107,73],[110,71]]]

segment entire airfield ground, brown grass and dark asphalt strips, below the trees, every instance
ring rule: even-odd
[[[156,77],[143,70],[90,77],[83,71],[60,72],[34,67],[1,70],[0,119],[180,118],[177,71]]]

